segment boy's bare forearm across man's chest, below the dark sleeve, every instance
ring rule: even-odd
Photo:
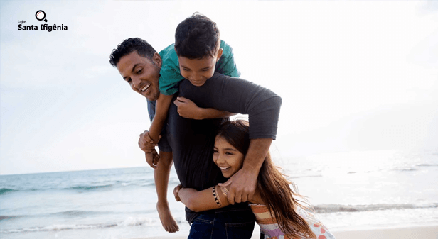
[[[178,106],[179,115],[184,118],[202,120],[206,118],[227,118],[235,115],[235,113],[213,108],[200,108],[193,101],[184,97],[177,97],[175,104]]]

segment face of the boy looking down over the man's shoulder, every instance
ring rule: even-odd
[[[216,62],[222,56],[222,48],[214,57],[203,57],[202,59],[188,59],[187,57],[178,57],[179,69],[181,75],[188,79],[191,84],[201,87],[207,79],[213,77],[215,73]]]

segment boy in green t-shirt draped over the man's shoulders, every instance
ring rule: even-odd
[[[201,87],[214,72],[240,77],[234,62],[233,50],[220,40],[219,29],[206,16],[194,13],[176,28],[175,44],[159,52],[163,66],[159,78],[159,99],[156,101],[156,113],[149,128],[150,144],[158,143],[159,134],[166,120],[173,94],[178,92],[178,84],[188,79],[191,84]],[[145,87],[146,88],[146,87]],[[145,91],[147,89],[144,89]],[[225,118],[233,115],[215,109],[203,109],[185,98],[179,98],[183,106],[181,116],[193,119]],[[146,150],[146,162],[155,168],[159,157],[155,149]]]

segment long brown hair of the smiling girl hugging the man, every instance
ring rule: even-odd
[[[220,127],[219,137],[223,137],[230,145],[246,155],[250,147],[249,123],[247,121],[226,121]],[[266,202],[271,216],[276,218],[280,230],[292,238],[316,238],[309,224],[297,213],[297,207],[311,210],[308,202],[295,199],[303,196],[298,194],[294,183],[286,179],[286,175],[279,171],[279,167],[272,163],[269,152],[260,168],[257,177],[257,189]],[[289,187],[292,185],[294,190]],[[304,204],[307,206],[304,206]],[[272,215],[272,213],[274,215]]]

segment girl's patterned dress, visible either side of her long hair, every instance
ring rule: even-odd
[[[306,238],[292,238],[288,235],[284,235],[280,230],[277,220],[271,216],[267,206],[260,204],[250,204],[252,213],[254,213],[257,224],[260,229],[265,233],[265,239],[306,239]],[[309,224],[311,230],[315,233],[318,239],[335,238],[333,234],[324,226],[315,216],[308,211],[297,207],[297,213],[299,216]]]

